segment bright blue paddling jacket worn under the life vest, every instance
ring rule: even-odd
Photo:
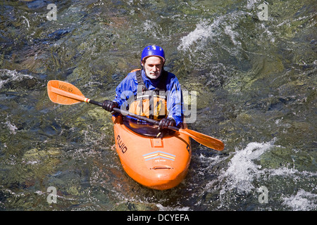
[[[123,81],[117,86],[114,101],[119,104],[119,107],[121,107],[121,105],[123,105],[123,107],[127,105],[129,98],[133,100],[135,99],[135,95],[137,95],[136,73],[137,72],[130,72],[128,76],[125,77],[125,79],[123,79]],[[145,75],[144,70],[142,70],[142,78],[147,89],[154,90],[156,86],[159,85],[162,77],[160,76],[158,79],[149,79],[149,77]],[[168,94],[168,117],[172,117],[176,122],[176,126],[178,126],[184,119],[182,91],[177,77],[171,72],[168,72],[166,79],[166,94]]]

